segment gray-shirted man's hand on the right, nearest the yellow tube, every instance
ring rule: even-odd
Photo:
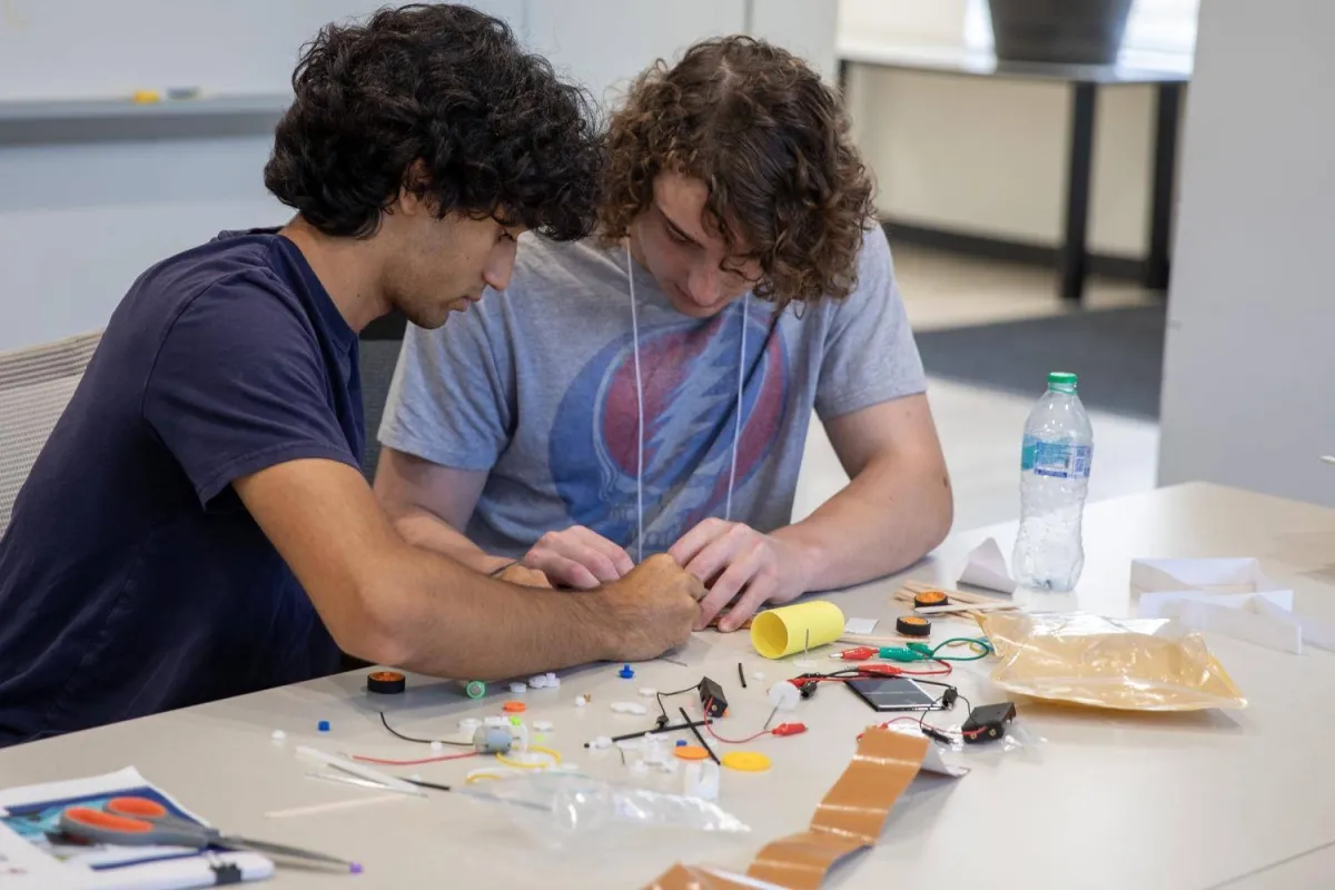
[[[718,630],[734,631],[765,603],[786,603],[808,586],[801,554],[773,535],[722,519],[705,519],[668,551],[709,595],[700,603],[696,630],[704,630],[732,603]]]

